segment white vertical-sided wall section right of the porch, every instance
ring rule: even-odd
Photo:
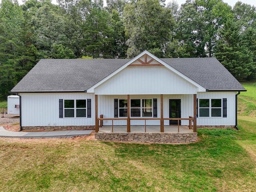
[[[199,117],[197,125],[231,125],[236,124],[236,93],[237,92],[204,92],[198,93],[198,99],[222,99],[227,98],[227,117]],[[199,105],[199,104],[198,104]],[[199,110],[199,106],[198,106]],[[221,110],[222,114],[223,111]]]

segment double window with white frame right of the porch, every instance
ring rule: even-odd
[[[200,99],[199,117],[221,117],[221,99]]]

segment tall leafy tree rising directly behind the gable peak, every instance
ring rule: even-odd
[[[144,50],[164,57],[166,46],[171,40],[174,18],[170,9],[158,0],[138,0],[126,4],[124,26],[127,36],[128,57]]]

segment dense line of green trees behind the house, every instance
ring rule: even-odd
[[[216,57],[256,78],[256,8],[222,0],[2,0],[0,99],[42,58]]]

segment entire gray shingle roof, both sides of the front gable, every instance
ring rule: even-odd
[[[245,90],[216,58],[164,58],[208,90]],[[85,91],[130,59],[42,59],[12,92]]]

